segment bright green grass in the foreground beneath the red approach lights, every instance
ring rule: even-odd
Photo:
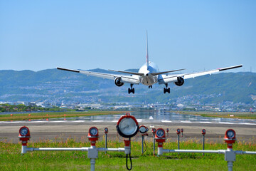
[[[228,170],[224,155],[196,153],[165,153],[161,157],[153,155],[153,143],[146,141],[147,150],[141,154],[141,142],[132,142],[132,170]],[[104,147],[105,142],[97,142],[97,147]],[[90,142],[65,142],[43,140],[28,142],[28,147],[89,147]],[[124,142],[109,140],[108,147],[124,147]],[[165,149],[176,149],[176,142],[164,143]],[[181,142],[181,149],[200,150],[202,147],[195,140]],[[206,150],[226,149],[223,143],[206,143]],[[249,142],[238,141],[234,150],[256,151],[256,139]],[[87,152],[28,152],[21,155],[21,144],[0,142],[0,170],[90,170]],[[237,155],[233,170],[255,170],[256,155]],[[126,170],[124,152],[99,152],[96,170]]]

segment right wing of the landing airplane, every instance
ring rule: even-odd
[[[163,84],[163,83],[171,83],[171,82],[177,82],[178,81],[178,77],[185,79],[188,78],[196,78],[198,76],[205,76],[208,74],[212,74],[212,73],[218,73],[220,71],[225,71],[225,70],[230,70],[230,69],[234,69],[234,68],[240,68],[242,67],[242,65],[238,65],[238,66],[230,66],[230,67],[226,67],[226,68],[218,68],[215,70],[210,70],[210,71],[202,71],[202,72],[198,72],[198,73],[182,73],[182,74],[177,74],[177,75],[161,75],[161,77],[159,77],[159,84]]]

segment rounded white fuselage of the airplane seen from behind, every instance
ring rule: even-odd
[[[159,68],[155,63],[149,62],[149,66],[145,63],[139,68],[139,73],[144,73],[144,76],[139,76],[139,82],[146,86],[152,86],[154,83],[158,82],[158,76],[152,76],[151,73],[157,72],[159,72]]]

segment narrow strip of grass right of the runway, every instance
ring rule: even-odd
[[[238,119],[256,119],[256,113],[235,113],[235,112],[206,112],[206,111],[178,111],[184,115],[201,115],[212,118],[238,118]]]

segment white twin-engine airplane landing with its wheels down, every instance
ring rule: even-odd
[[[147,31],[146,31],[146,63],[139,68],[139,72],[130,72],[130,71],[114,71],[117,73],[126,73],[129,75],[124,74],[112,74],[112,73],[97,73],[92,71],[82,71],[82,70],[73,70],[68,68],[57,68],[59,70],[63,71],[72,71],[75,73],[82,73],[87,76],[95,76],[100,78],[107,78],[110,80],[114,80],[114,84],[118,87],[124,86],[124,83],[129,83],[130,88],[128,88],[128,93],[135,92],[133,85],[142,83],[145,86],[149,86],[149,88],[152,88],[152,86],[155,83],[164,84],[166,88],[164,88],[164,93],[170,93],[170,88],[168,88],[169,83],[174,83],[176,86],[182,86],[184,83],[184,80],[188,78],[196,78],[198,76],[205,76],[212,73],[218,73],[220,71],[226,71],[233,68],[240,68],[242,65],[238,66],[230,66],[226,68],[218,68],[210,71],[202,71],[198,73],[177,73],[177,74],[170,74],[176,71],[182,71],[184,69],[178,69],[173,71],[164,71],[160,72],[159,68],[156,66],[155,63],[149,61],[149,51],[148,51],[148,38],[147,38]]]

